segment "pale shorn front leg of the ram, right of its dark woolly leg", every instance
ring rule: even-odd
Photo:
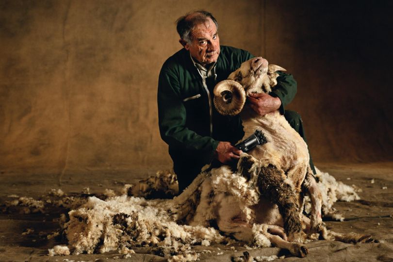
[[[302,191],[308,193],[311,199],[310,231],[311,233],[320,233],[322,230],[322,194],[312,175],[310,165],[302,183]]]

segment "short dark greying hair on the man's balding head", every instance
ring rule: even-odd
[[[218,29],[217,20],[214,16],[204,10],[198,10],[185,14],[176,20],[176,30],[178,31],[180,38],[185,40],[187,43],[191,43],[191,31],[194,27],[201,23],[206,23],[211,18]]]

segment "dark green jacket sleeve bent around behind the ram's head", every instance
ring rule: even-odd
[[[291,74],[278,72],[277,85],[269,93],[272,97],[280,98],[281,106],[279,108],[280,114],[284,115],[285,109],[294,98],[297,92],[297,83]]]

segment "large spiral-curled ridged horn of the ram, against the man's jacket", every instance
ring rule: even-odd
[[[237,115],[246,102],[243,86],[233,80],[217,83],[213,90],[214,106],[221,115]]]

